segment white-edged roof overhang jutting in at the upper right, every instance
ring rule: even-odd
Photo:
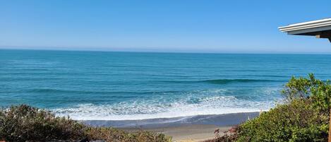
[[[331,42],[331,18],[313,20],[279,27],[289,35],[311,35],[318,38],[328,38]]]

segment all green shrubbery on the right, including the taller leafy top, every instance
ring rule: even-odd
[[[269,112],[235,126],[211,141],[327,141],[331,85],[309,74],[292,77],[284,100]]]

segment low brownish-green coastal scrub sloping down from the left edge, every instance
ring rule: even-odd
[[[111,127],[86,126],[68,117],[56,117],[47,110],[19,105],[0,110],[0,140],[168,142],[171,137],[150,131],[128,133]]]

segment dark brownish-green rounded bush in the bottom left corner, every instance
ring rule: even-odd
[[[0,112],[0,138],[6,141],[76,140],[84,137],[84,127],[76,121],[28,105]]]

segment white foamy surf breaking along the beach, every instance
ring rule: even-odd
[[[217,92],[226,90],[210,90]],[[163,101],[162,101],[163,100]],[[188,95],[174,102],[164,98],[119,102],[113,105],[82,104],[53,110],[58,116],[70,116],[77,120],[134,120],[171,117],[188,117],[206,114],[259,112],[274,106],[272,101],[241,100],[234,96]]]

